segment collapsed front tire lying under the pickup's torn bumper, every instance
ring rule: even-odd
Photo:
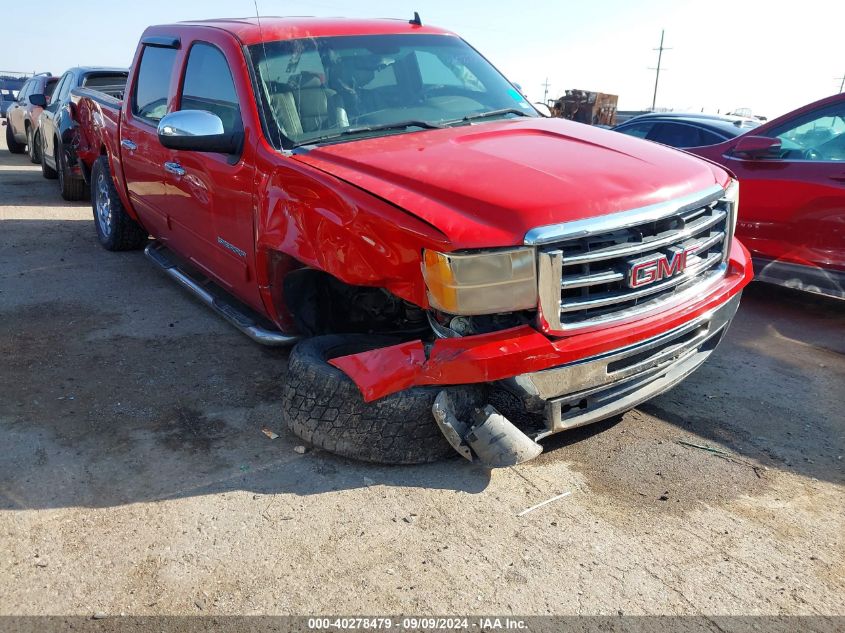
[[[434,462],[455,450],[431,407],[441,390],[461,414],[483,404],[483,385],[411,387],[364,402],[357,385],[329,365],[331,358],[395,344],[387,337],[329,335],[293,348],[282,395],[282,418],[295,435],[332,453],[381,464]]]

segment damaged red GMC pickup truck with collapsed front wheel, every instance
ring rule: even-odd
[[[724,169],[543,118],[416,17],[155,26],[123,101],[73,99],[102,245],[297,342],[282,415],[342,455],[529,459],[690,374],[752,276]]]

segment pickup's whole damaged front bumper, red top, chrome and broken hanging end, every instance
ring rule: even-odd
[[[332,359],[366,401],[415,385],[495,383],[543,413],[544,426],[523,430],[492,407],[460,420],[441,393],[433,414],[464,457],[488,467],[536,457],[536,443],[627,411],[670,389],[698,368],[721,341],[751,280],[748,251],[738,242],[727,274],[697,301],[635,323],[550,339],[523,326],[458,339],[421,341]]]

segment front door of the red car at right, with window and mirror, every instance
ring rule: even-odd
[[[726,165],[740,180],[737,235],[755,256],[845,270],[845,99],[750,132],[779,157]]]

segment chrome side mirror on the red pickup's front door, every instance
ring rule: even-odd
[[[180,110],[158,123],[158,140],[169,149],[239,154],[243,132],[226,132],[220,117],[205,110]]]

